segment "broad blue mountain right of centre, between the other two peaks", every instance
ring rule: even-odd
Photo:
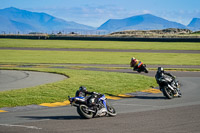
[[[168,21],[151,14],[144,14],[125,19],[110,19],[102,24],[98,30],[159,30],[167,28],[186,29],[187,27],[180,23]]]

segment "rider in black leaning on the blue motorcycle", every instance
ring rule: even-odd
[[[76,91],[76,97],[86,97],[87,95],[91,95],[88,100],[87,100],[87,104],[90,107],[96,107],[97,102],[98,102],[98,98],[101,97],[101,94],[96,93],[96,92],[89,92],[87,91],[87,88],[85,86],[80,86],[79,90]]]

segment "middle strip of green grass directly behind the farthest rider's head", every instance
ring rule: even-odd
[[[31,50],[0,50],[0,63],[129,64],[132,56],[145,64],[200,65],[200,54]]]

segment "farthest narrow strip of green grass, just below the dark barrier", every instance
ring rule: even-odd
[[[0,39],[0,47],[200,50],[200,43]]]

